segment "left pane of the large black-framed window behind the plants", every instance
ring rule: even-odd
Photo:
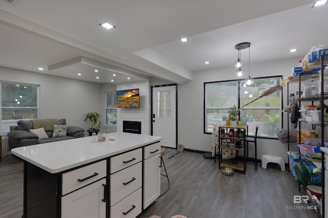
[[[204,132],[212,133],[213,125],[225,123],[229,108],[238,105],[238,81],[204,83],[204,93]]]

